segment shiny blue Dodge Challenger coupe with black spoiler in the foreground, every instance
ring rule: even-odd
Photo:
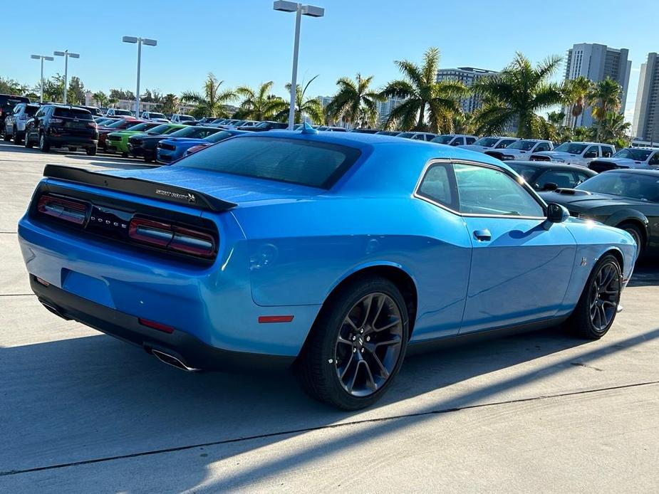
[[[306,126],[44,176],[19,241],[48,310],[188,371],[294,365],[343,409],[437,340],[564,321],[603,336],[637,252],[497,159],[381,135]]]

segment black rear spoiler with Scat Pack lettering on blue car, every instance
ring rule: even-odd
[[[135,194],[136,196],[148,197],[150,199],[175,202],[205,211],[228,211],[238,205],[183,187],[131,177],[115,177],[113,175],[90,172],[82,168],[65,167],[59,164],[46,164],[46,168],[43,169],[43,177],[66,180],[67,182],[75,182],[76,184],[93,185],[102,189],[127,192],[128,194]]]

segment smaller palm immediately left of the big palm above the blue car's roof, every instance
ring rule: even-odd
[[[380,93],[370,89],[373,75],[362,78],[357,73],[355,80],[347,77],[336,81],[338,90],[331,103],[327,105],[326,115],[333,120],[355,123],[356,125],[375,125],[378,120],[378,101],[383,101]]]

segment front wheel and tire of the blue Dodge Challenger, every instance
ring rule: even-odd
[[[616,256],[606,254],[596,263],[568,320],[569,328],[576,335],[589,340],[599,340],[606,335],[616,320],[621,280]]]

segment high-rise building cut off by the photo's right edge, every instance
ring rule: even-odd
[[[640,65],[632,131],[639,140],[659,141],[659,56],[654,52]]]

